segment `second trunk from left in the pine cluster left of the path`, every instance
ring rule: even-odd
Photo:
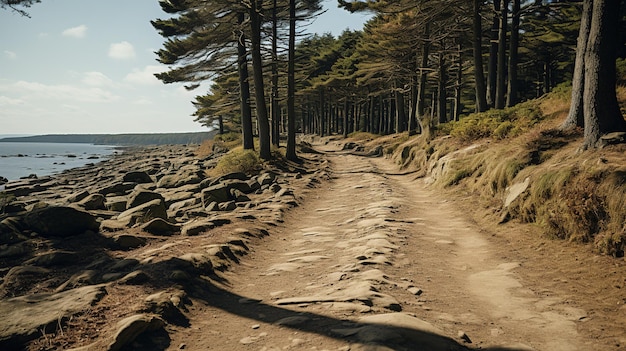
[[[250,7],[250,41],[252,44],[252,72],[254,75],[254,97],[256,101],[256,118],[259,123],[259,156],[264,160],[272,158],[270,142],[270,126],[265,102],[265,85],[263,84],[263,59],[261,58],[261,12],[263,0],[253,0]]]

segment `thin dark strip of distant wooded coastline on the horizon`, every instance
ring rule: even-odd
[[[94,145],[166,145],[201,144],[213,139],[217,131],[193,133],[152,134],[47,134],[1,138],[0,142],[12,143],[68,143]]]

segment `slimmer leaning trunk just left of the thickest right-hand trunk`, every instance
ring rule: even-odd
[[[593,11],[591,1],[583,2],[583,12],[580,19],[580,29],[578,31],[578,42],[576,43],[576,61],[574,62],[574,76],[572,78],[572,101],[569,107],[567,118],[559,127],[561,130],[568,130],[576,127],[584,127],[583,113],[583,91],[585,89],[585,52],[587,51],[587,41],[591,27],[591,13]]]

